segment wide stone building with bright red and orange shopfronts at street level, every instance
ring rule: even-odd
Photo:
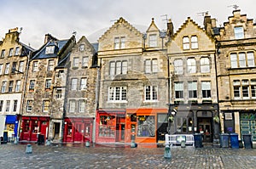
[[[96,143],[157,143],[166,132],[166,41],[154,20],[143,34],[123,18],[99,38]]]

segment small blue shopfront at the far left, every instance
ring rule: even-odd
[[[5,127],[3,130],[3,139],[5,141],[14,141],[17,137],[19,119],[17,115],[6,115]]]

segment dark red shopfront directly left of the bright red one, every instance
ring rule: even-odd
[[[65,118],[63,142],[92,143],[94,118],[70,117]]]

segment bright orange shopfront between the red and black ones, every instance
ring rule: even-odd
[[[157,143],[159,126],[163,123],[161,119],[165,119],[166,115],[167,109],[127,109],[125,143]]]

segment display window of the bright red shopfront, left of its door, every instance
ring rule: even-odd
[[[116,119],[114,115],[100,115],[99,137],[115,137]]]

